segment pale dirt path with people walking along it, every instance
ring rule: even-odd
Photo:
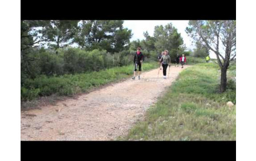
[[[21,112],[21,141],[114,140],[143,119],[147,108],[183,69],[172,66],[167,79],[162,78],[162,71],[158,77],[154,69],[143,72],[141,80],[127,79],[78,99]]]

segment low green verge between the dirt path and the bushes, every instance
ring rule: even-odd
[[[143,63],[143,70],[157,68],[157,63]],[[91,88],[125,79],[133,75],[133,65],[115,67],[99,72],[81,73],[76,75],[63,75],[46,77],[44,75],[34,80],[26,80],[21,87],[21,100],[35,100],[40,96],[71,96],[87,92]]]

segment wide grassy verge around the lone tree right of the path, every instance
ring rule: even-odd
[[[228,79],[235,75],[229,69]],[[223,141],[235,140],[235,84],[219,93],[219,67],[197,64],[181,72],[165,96],[146,113],[125,137],[118,140]],[[232,84],[233,83],[233,84]]]

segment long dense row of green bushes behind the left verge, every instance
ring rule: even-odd
[[[53,51],[42,48],[26,55],[30,61],[21,62],[21,82],[39,75],[59,76],[122,67],[133,62],[133,54],[130,51],[111,54],[99,49],[60,48]]]

